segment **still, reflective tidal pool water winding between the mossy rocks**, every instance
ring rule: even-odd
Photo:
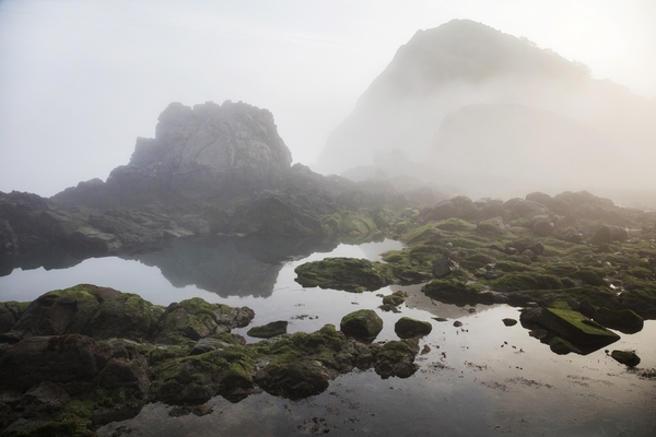
[[[199,296],[208,302],[248,306],[251,326],[288,320],[289,332],[312,332],[362,308],[376,309],[378,294],[403,290],[400,314],[377,310],[384,330],[377,340],[396,340],[401,316],[430,321],[422,339],[430,352],[408,379],[383,380],[354,371],[328,390],[291,402],[267,393],[238,403],[218,397],[203,416],[168,415],[171,408],[147,405],[134,418],[98,429],[102,436],[281,436],[281,435],[449,435],[653,436],[656,435],[656,381],[642,379],[607,356],[559,356],[530,338],[517,308],[505,305],[458,307],[434,302],[421,286],[391,286],[352,294],[303,288],[294,268],[325,257],[379,259],[400,248],[393,240],[338,245],[307,240],[222,239],[174,241],[159,252],[131,258],[84,260],[66,270],[16,270],[0,277],[0,300],[32,300],[55,288],[93,283],[138,293],[159,305]],[[435,317],[447,321],[436,321]],[[454,327],[459,320],[462,326]],[[247,329],[235,330],[246,336]],[[632,349],[641,369],[656,367],[656,322],[608,346]],[[257,341],[249,339],[248,341]]]

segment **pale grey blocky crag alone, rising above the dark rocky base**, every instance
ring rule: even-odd
[[[274,185],[292,163],[267,109],[230,101],[194,108],[172,103],[159,121],[155,138],[137,139],[130,163],[106,184],[83,182],[52,200],[96,209],[218,202]]]

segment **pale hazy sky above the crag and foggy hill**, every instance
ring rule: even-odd
[[[453,19],[656,96],[654,0],[0,0],[0,191],[105,179],[171,102],[267,108],[311,164],[399,46]]]

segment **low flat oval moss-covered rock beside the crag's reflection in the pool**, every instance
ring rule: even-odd
[[[294,272],[297,275],[295,281],[304,287],[319,286],[355,293],[378,290],[394,282],[390,265],[354,258],[326,258],[306,262]]]

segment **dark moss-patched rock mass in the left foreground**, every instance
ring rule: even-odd
[[[200,298],[164,308],[78,285],[26,308],[0,308],[7,323],[13,318],[0,336],[0,432],[20,423],[38,435],[93,435],[91,429],[131,417],[148,402],[238,401],[258,390],[303,399],[354,368],[374,368],[382,378],[406,378],[418,368],[417,340],[364,343],[332,324],[246,344],[231,329],[247,326],[253,310]],[[375,317],[345,317],[344,327],[377,334],[382,320],[370,311]],[[280,331],[282,324],[268,328]]]

